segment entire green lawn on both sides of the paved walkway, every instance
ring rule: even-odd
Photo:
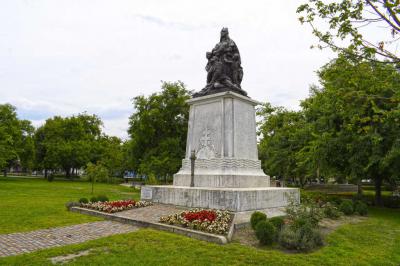
[[[93,221],[65,211],[64,203],[89,196],[81,182],[0,179],[2,232],[26,231]],[[98,193],[124,198],[131,189],[98,185]],[[96,193],[96,194],[98,194]],[[23,204],[23,205],[21,205]],[[19,207],[21,205],[22,207]],[[3,219],[6,218],[6,219]],[[191,238],[141,229],[83,244],[52,248],[0,259],[0,265],[51,265],[49,258],[91,250],[68,265],[400,265],[400,210],[371,208],[369,218],[329,234],[326,245],[308,254],[242,246],[216,245]]]

